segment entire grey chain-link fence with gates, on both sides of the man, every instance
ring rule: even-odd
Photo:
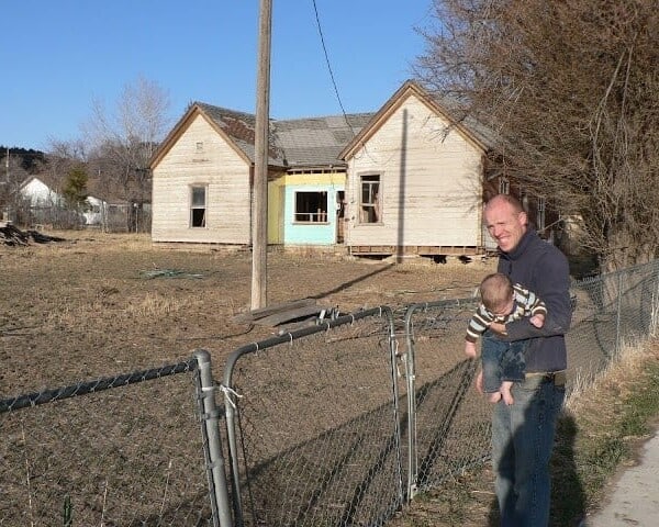
[[[570,381],[656,334],[658,278],[655,261],[573,282]],[[198,350],[2,400],[0,525],[382,526],[488,459],[474,307],[339,316],[237,348],[221,380]]]

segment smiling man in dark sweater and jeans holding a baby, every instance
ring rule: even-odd
[[[521,203],[506,194],[484,209],[488,232],[500,250],[498,271],[545,301],[541,328],[526,321],[493,324],[485,338],[530,339],[525,380],[513,388],[514,404],[496,403],[492,415],[492,467],[503,527],[545,527],[549,523],[549,459],[556,421],[565,399],[570,326],[570,276],[565,255],[528,226]],[[482,392],[482,372],[477,377]]]

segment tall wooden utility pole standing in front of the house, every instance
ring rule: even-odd
[[[268,137],[270,123],[270,41],[272,0],[260,0],[252,201],[252,310],[267,305]]]

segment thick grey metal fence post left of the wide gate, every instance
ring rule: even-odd
[[[204,349],[194,351],[199,368],[199,380],[201,383],[201,405],[203,410],[202,426],[206,441],[206,471],[209,473],[209,495],[213,508],[213,523],[220,527],[232,527],[231,506],[228,501],[228,487],[224,472],[224,457],[220,441],[220,415],[221,411],[215,404],[215,382],[211,370],[211,356]]]

